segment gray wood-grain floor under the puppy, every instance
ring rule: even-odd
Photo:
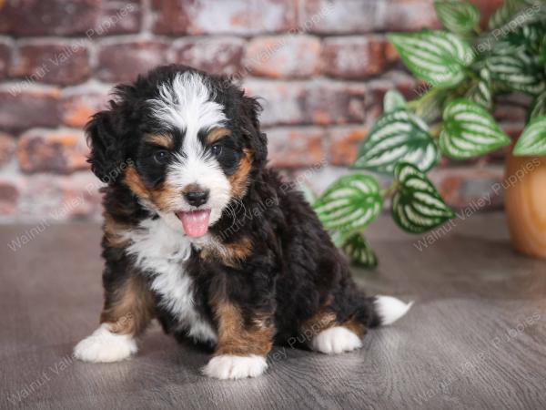
[[[456,225],[419,251],[373,224],[380,267],[355,276],[415,300],[409,315],[357,353],[277,348],[266,375],[237,382],[199,375],[207,354],[157,326],[132,360],[74,361],[102,303],[98,227],[50,226],[17,251],[31,227],[0,227],[0,407],[546,408],[546,262],[511,251],[500,214]]]

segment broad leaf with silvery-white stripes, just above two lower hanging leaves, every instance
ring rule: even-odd
[[[428,171],[440,157],[429,128],[404,109],[383,114],[360,145],[353,168],[392,174],[399,161],[408,161]]]

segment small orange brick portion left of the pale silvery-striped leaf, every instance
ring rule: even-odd
[[[368,134],[368,129],[360,127],[330,128],[329,163],[349,167],[357,159],[360,142]]]

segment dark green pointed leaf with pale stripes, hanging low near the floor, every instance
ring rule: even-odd
[[[441,199],[432,182],[419,169],[407,162],[395,168],[399,188],[392,197],[392,217],[404,231],[430,231],[455,216]]]

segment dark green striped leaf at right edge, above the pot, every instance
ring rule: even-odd
[[[487,67],[494,80],[514,91],[538,95],[546,89],[540,56],[529,54],[523,47],[498,43],[487,60]]]

